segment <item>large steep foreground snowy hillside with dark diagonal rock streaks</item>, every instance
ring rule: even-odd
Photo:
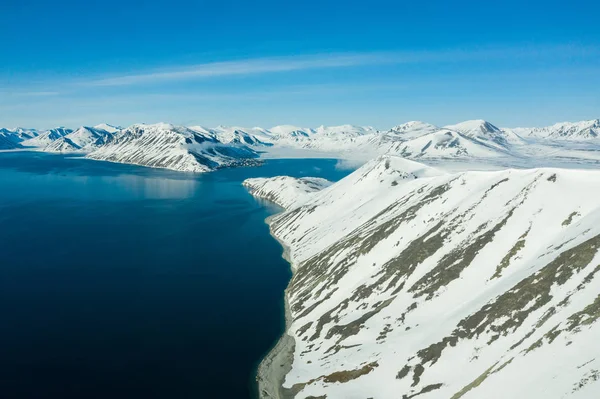
[[[598,194],[385,156],[272,218],[294,276],[261,397],[600,397]]]

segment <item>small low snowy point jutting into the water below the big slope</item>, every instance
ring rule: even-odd
[[[264,198],[284,208],[300,206],[317,191],[329,187],[331,182],[320,177],[288,176],[244,180],[244,186],[258,198]]]

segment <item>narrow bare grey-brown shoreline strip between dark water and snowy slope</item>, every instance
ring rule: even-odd
[[[265,223],[269,226],[269,233],[283,247],[283,258],[290,264],[292,278],[294,268],[290,259],[290,248],[273,234],[271,229],[271,220],[274,216],[271,215],[265,219]],[[290,279],[291,282],[291,279]],[[292,315],[288,302],[288,287],[284,291],[284,308],[285,308],[285,331],[279,338],[273,349],[261,360],[258,371],[256,373],[256,382],[258,384],[258,397],[260,399],[290,399],[289,393],[283,388],[285,376],[292,369],[294,360],[294,349],[296,342],[294,338],[288,334],[288,329],[292,324]]]

